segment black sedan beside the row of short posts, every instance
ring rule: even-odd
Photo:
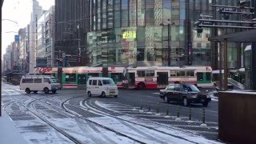
[[[209,94],[201,92],[192,84],[174,83],[166,86],[166,89],[160,90],[159,97],[165,102],[182,102],[183,106],[190,103],[202,103],[202,106],[208,106],[211,102]]]

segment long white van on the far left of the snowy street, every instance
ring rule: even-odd
[[[26,94],[30,94],[33,91],[35,94],[38,90],[44,91],[46,94],[49,91],[56,93],[61,89],[61,84],[57,82],[54,77],[48,75],[26,75],[22,76],[20,82],[20,90],[25,90]]]

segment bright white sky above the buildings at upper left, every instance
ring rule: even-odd
[[[42,10],[49,10],[50,6],[54,5],[54,0],[38,0],[38,2]],[[18,34],[18,30],[30,23],[31,12],[32,0],[4,1],[2,5],[2,55],[6,53],[6,47],[14,42],[14,35]]]

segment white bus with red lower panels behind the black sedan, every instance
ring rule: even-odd
[[[210,66],[128,67],[124,73],[127,74],[128,88],[159,89],[165,88],[171,82],[186,82],[200,87],[214,86]]]

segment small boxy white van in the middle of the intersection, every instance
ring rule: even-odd
[[[86,94],[88,97],[96,96],[114,96],[118,97],[118,86],[114,84],[112,78],[88,78],[86,84]]]

